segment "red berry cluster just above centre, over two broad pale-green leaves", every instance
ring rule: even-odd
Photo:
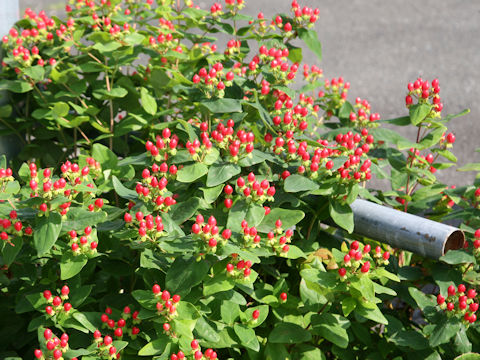
[[[255,135],[242,129],[235,132],[234,125],[232,119],[227,121],[227,126],[219,122],[215,130],[210,133],[210,137],[215,142],[216,147],[223,150],[229,161],[237,163],[253,151]],[[207,129],[207,123],[200,124],[201,138],[204,143],[208,140]]]

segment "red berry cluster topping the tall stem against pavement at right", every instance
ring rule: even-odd
[[[439,117],[443,109],[443,103],[440,99],[440,86],[438,79],[433,79],[430,84],[427,80],[419,77],[413,83],[408,83],[408,95],[405,98],[405,104],[409,108],[413,105],[416,99],[419,104],[431,104],[432,111],[427,116],[428,118]]]

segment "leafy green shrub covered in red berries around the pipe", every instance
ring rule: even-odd
[[[435,178],[461,115],[439,81],[381,120],[302,63],[318,9],[243,6],[70,0],[3,37],[2,134],[22,150],[0,161],[2,358],[479,356],[462,354],[480,351],[480,183]],[[473,244],[433,261],[356,236],[358,196]]]

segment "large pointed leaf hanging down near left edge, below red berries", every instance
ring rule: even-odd
[[[33,232],[33,243],[38,256],[50,251],[57,241],[61,229],[62,216],[57,212],[50,213],[50,216],[37,218],[35,231]]]

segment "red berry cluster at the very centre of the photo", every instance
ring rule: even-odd
[[[254,202],[260,205],[265,201],[274,200],[273,197],[276,192],[275,186],[271,185],[268,180],[257,179],[253,172],[249,173],[246,179],[246,181],[243,177],[237,179],[236,191],[240,198],[244,198],[247,202]],[[233,204],[233,187],[226,185],[223,191],[226,195],[224,204],[227,208],[230,208]]]

